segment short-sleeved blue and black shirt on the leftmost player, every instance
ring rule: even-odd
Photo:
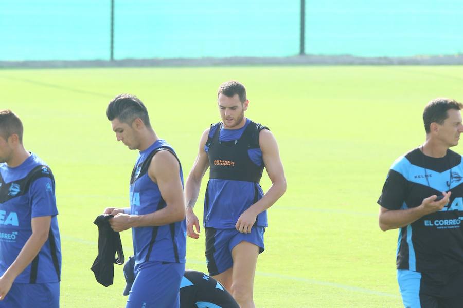
[[[31,219],[51,216],[49,236],[39,254],[14,280],[16,283],[60,281],[61,246],[55,180],[34,153],[19,166],[0,164],[0,276],[14,262],[32,235]]]

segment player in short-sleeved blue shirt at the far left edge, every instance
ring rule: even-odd
[[[17,115],[0,110],[0,307],[59,307],[57,215],[50,168],[24,148]]]

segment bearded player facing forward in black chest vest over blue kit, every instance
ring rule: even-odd
[[[204,203],[209,275],[231,292],[240,307],[254,307],[254,274],[257,256],[264,250],[266,209],[284,194],[286,179],[273,134],[244,117],[249,104],[244,86],[225,82],[217,99],[222,122],[204,131],[185,184],[187,234],[199,237],[193,206],[210,167]],[[264,167],[272,181],[265,195],[259,185]]]

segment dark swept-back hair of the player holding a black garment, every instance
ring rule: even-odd
[[[147,126],[151,127],[148,109],[135,95],[119,94],[115,97],[106,109],[108,120],[118,118],[120,122],[132,124],[133,120],[140,118]]]

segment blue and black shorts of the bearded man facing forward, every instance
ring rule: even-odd
[[[259,254],[265,249],[263,234],[265,227],[253,226],[251,233],[240,233],[237,229],[206,229],[206,262],[210,276],[216,276],[233,267],[231,249],[239,243],[250,242],[259,247]]]

